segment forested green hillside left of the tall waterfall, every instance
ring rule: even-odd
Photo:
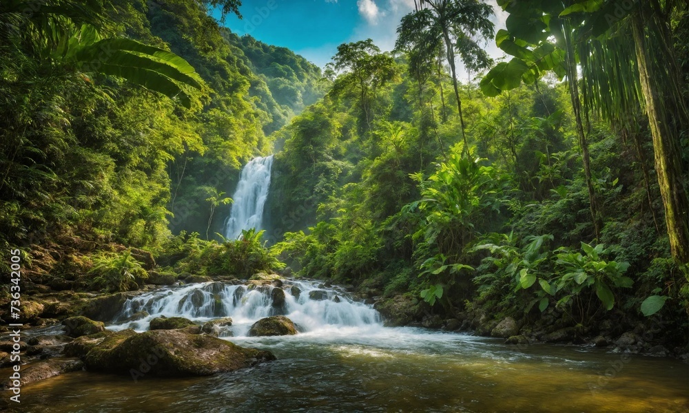
[[[0,242],[34,246],[36,273],[88,284],[103,253],[94,245],[156,251],[170,229],[212,237],[241,165],[269,153],[267,136],[325,93],[318,67],[209,17],[223,3],[235,2],[0,8],[10,28],[0,37]],[[150,51],[120,40],[110,44],[136,51],[101,47],[80,61],[100,39],[170,50],[193,69],[170,74],[160,51],[142,61]],[[71,264],[52,260],[65,251]]]

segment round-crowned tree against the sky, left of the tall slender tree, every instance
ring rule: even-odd
[[[395,61],[382,54],[371,39],[342,43],[333,61],[326,65],[325,76],[334,82],[330,96],[356,91],[362,118],[371,130],[371,99],[376,91],[395,77]]]

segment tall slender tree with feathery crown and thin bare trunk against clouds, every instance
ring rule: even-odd
[[[457,111],[460,114],[463,151],[467,156],[469,145],[466,141],[462,100],[457,85],[455,49],[467,70],[478,71],[489,67],[492,61],[480,47],[479,41],[493,37],[494,25],[490,21],[491,14],[493,8],[477,0],[422,1],[421,9],[407,14],[397,30],[397,47],[413,50],[421,61],[435,60],[438,47],[444,46],[457,99]]]

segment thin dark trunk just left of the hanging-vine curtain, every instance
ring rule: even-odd
[[[572,31],[569,23],[564,23],[562,26],[562,33],[566,43],[566,65],[567,77],[569,79],[569,94],[572,100],[572,107],[574,109],[574,116],[577,120],[577,136],[579,136],[579,147],[582,148],[582,163],[584,164],[584,175],[586,176],[586,188],[588,189],[588,200],[593,219],[593,229],[597,240],[600,240],[601,235],[601,217],[599,213],[598,202],[593,189],[593,179],[591,178],[591,164],[590,156],[588,154],[588,141],[586,140],[586,132],[584,131],[584,122],[582,120],[582,101],[579,99],[579,85],[577,84],[577,63],[575,61],[574,45],[572,43]]]

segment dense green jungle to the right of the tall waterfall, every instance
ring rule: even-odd
[[[610,5],[505,2],[496,64],[475,41],[493,38],[489,8],[446,21],[428,3],[392,54],[340,45],[327,96],[279,132],[274,248],[394,297],[380,310],[403,324],[489,333],[510,315],[593,337],[660,312],[686,346],[687,11],[606,26]],[[475,82],[453,82],[452,53]]]

